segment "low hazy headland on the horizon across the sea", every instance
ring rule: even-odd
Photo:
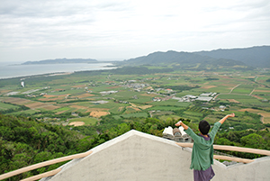
[[[96,59],[44,59],[40,61],[26,61],[22,65],[30,64],[63,64],[63,63],[97,63]]]

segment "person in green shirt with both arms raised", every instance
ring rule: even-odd
[[[175,126],[183,126],[184,131],[194,140],[192,162],[190,168],[193,169],[194,181],[209,181],[215,173],[211,165],[213,164],[213,141],[220,126],[229,117],[234,117],[235,114],[231,113],[223,117],[219,122],[214,123],[210,133],[210,124],[204,120],[199,123],[199,135],[195,134],[191,128],[183,122],[175,123]]]

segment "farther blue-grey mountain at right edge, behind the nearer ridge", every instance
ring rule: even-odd
[[[235,59],[255,68],[270,68],[270,46],[193,52],[216,59]]]

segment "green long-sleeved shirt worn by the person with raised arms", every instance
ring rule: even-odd
[[[209,133],[210,140],[204,140],[188,128],[185,132],[194,140],[191,169],[206,170],[213,164],[213,141],[217,131],[221,126],[220,122],[216,122]]]

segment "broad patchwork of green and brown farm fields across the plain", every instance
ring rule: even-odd
[[[193,71],[145,75],[102,72],[100,75],[81,73],[27,78],[24,88],[16,81],[5,86],[0,80],[0,111],[30,117],[34,115],[39,119],[49,116],[54,123],[66,120],[66,123],[75,122],[76,126],[94,125],[106,116],[116,120],[150,116],[165,121],[184,118],[195,123],[205,119],[213,123],[231,112],[237,113],[238,118],[229,120],[228,128],[229,125],[237,126],[240,130],[242,124],[246,129],[254,122],[270,123],[270,83],[266,82],[269,75],[259,71],[196,71],[196,66]],[[179,101],[184,95],[199,96],[202,93],[217,93],[216,100]],[[173,99],[175,97],[177,99]],[[28,110],[23,110],[22,105]],[[225,106],[225,111],[220,109],[220,105]],[[245,109],[246,114],[242,111]]]

